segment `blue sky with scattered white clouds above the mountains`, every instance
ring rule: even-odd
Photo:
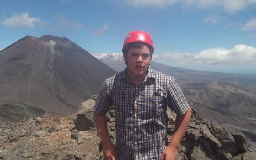
[[[256,0],[0,0],[0,50],[26,35],[67,37],[97,58],[148,32],[153,60],[256,74]]]

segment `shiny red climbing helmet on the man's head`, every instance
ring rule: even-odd
[[[132,31],[131,33],[129,33],[124,40],[124,45],[123,45],[123,53],[125,51],[125,46],[131,42],[144,42],[149,44],[152,49],[151,49],[151,53],[153,54],[154,52],[154,45],[153,45],[153,41],[151,39],[151,36],[149,35],[149,33],[144,32],[144,31]]]

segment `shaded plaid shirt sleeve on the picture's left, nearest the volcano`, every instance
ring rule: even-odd
[[[96,99],[93,110],[100,115],[106,114],[112,106],[111,96],[109,92],[108,79],[103,83],[99,95]]]

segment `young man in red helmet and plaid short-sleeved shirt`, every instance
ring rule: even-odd
[[[191,109],[174,78],[151,69],[150,35],[133,31],[123,45],[127,68],[108,78],[94,106],[94,120],[105,160],[174,160],[191,117]],[[114,105],[116,146],[109,138],[106,113]],[[168,146],[167,105],[177,114]]]

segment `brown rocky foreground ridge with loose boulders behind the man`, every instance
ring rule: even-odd
[[[102,144],[93,122],[96,96],[79,106],[77,114],[60,117],[45,112],[37,118],[13,123],[0,138],[0,159],[101,160]],[[168,139],[174,130],[175,114],[167,110]],[[110,138],[115,143],[114,110],[107,113]],[[193,114],[178,149],[178,160],[252,160],[256,148],[237,129]]]

